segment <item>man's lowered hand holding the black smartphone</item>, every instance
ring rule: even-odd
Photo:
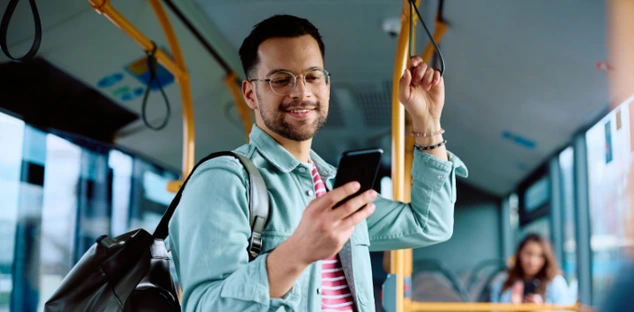
[[[288,239],[295,246],[296,255],[302,264],[310,265],[337,254],[352,235],[354,227],[374,212],[374,204],[371,203],[377,196],[374,190],[332,209],[339,201],[358,191],[359,187],[357,182],[348,183],[308,204],[297,229]]]

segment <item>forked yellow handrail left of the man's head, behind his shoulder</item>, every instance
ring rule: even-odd
[[[125,17],[121,15],[112,5],[109,0],[88,0],[90,5],[99,14],[108,18],[115,26],[120,28],[126,33],[132,40],[141,46],[145,51],[151,51],[153,48],[152,41],[148,39],[143,33],[141,33],[132,23],[130,23]],[[180,90],[181,99],[183,105],[183,179],[189,175],[194,168],[194,109],[192,104],[191,87],[189,85],[189,74],[187,73],[187,67],[185,66],[185,60],[180,50],[178,40],[174,33],[174,29],[167,18],[167,14],[163,10],[159,0],[149,0],[152,9],[156,14],[169,48],[174,55],[174,61],[162,50],[157,49],[155,57],[157,61],[163,65],[176,79]],[[167,189],[170,192],[176,192],[180,188],[182,181],[172,181],[167,185]]]

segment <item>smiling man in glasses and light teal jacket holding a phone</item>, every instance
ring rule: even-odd
[[[236,151],[255,163],[269,190],[263,253],[248,261],[245,169],[232,157],[201,165],[170,223],[184,310],[373,311],[370,249],[423,247],[452,233],[455,174],[467,172],[438,144],[443,79],[418,57],[401,79],[414,130],[428,134],[417,143],[435,147],[415,151],[411,205],[368,191],[332,209],[359,185],[326,192],[336,171],[311,151],[330,99],[319,32],[305,19],[274,16],[256,25],[240,57],[256,124],[250,144]]]

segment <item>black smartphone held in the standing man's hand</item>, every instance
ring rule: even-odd
[[[353,181],[359,182],[361,188],[355,194],[337,203],[333,208],[337,208],[349,199],[372,189],[381,165],[382,155],[383,150],[380,148],[347,151],[341,155],[334,188]]]

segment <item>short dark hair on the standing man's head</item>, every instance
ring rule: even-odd
[[[256,24],[242,42],[239,51],[242,69],[247,79],[252,78],[249,75],[260,62],[258,48],[262,42],[270,38],[295,38],[304,35],[310,35],[317,41],[323,58],[326,52],[324,42],[321,40],[319,30],[307,19],[292,15],[275,15]]]

